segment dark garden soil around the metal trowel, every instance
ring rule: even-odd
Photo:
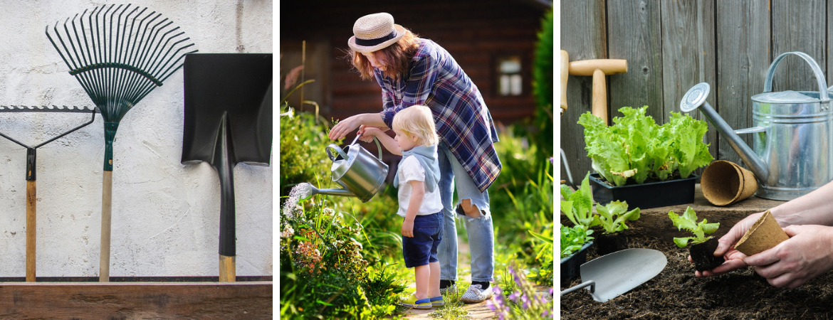
[[[833,273],[824,273],[799,288],[775,288],[755,273],[739,269],[713,278],[696,278],[688,248],[671,241],[628,237],[628,248],[657,249],[668,265],[646,283],[598,303],[586,290],[561,297],[561,319],[826,319],[833,318]],[[597,258],[591,248],[587,261]],[[625,275],[627,270],[617,272]],[[561,283],[561,290],[581,278]]]

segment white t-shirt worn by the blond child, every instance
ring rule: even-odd
[[[416,156],[410,155],[402,161],[402,165],[397,169],[399,174],[399,211],[397,214],[402,217],[405,216],[408,210],[408,204],[411,203],[412,187],[409,181],[417,180],[425,183],[425,168],[416,160]],[[428,192],[428,186],[425,186],[425,195],[422,197],[422,204],[416,215],[436,214],[442,210],[442,201],[440,200],[440,187],[434,186],[434,191]]]

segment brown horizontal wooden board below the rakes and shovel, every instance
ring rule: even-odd
[[[272,318],[272,282],[0,283],[0,318]]]

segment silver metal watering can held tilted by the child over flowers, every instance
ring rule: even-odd
[[[370,151],[363,148],[362,145],[357,145],[356,139],[353,139],[350,145],[347,145],[342,150],[336,144],[327,145],[325,150],[327,156],[332,160],[330,171],[332,173],[332,181],[342,185],[342,189],[317,189],[309,183],[301,184],[299,199],[306,200],[315,194],[329,194],[340,195],[347,197],[357,197],[362,202],[367,202],[376,195],[379,190],[385,185],[385,178],[387,178],[387,164],[382,162],[382,145],[379,140],[375,139],[377,148],[379,150],[378,158],[373,156]],[[335,150],[336,155],[333,155],[330,150]]]

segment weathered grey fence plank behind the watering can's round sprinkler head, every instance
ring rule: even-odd
[[[662,2],[662,92],[665,116],[662,123],[671,118],[671,111],[680,111],[682,96],[700,82],[714,86],[716,81],[715,57],[715,7],[711,0],[685,0]],[[706,98],[716,105],[714,91]],[[695,119],[705,121],[699,111],[690,112]],[[659,123],[659,121],[657,121]],[[706,132],[709,152],[717,155],[717,130],[711,125]],[[693,174],[701,175],[703,169]]]

